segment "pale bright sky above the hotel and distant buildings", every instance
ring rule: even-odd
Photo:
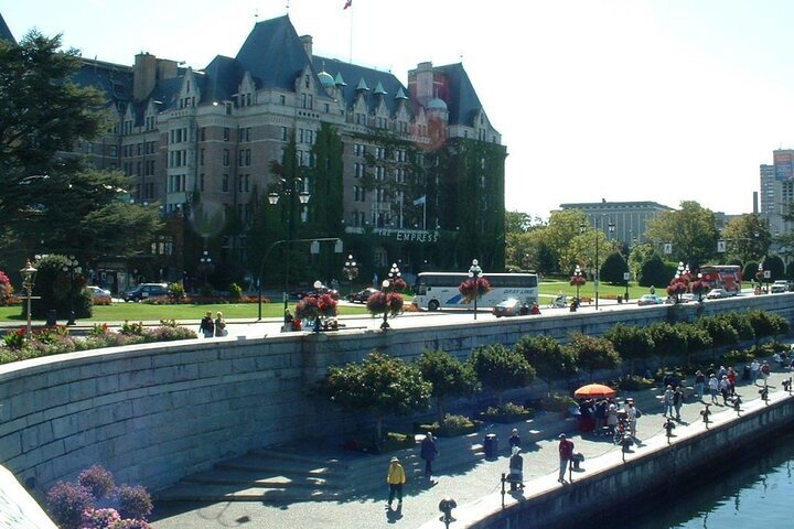
[[[19,39],[63,33],[86,57],[204,67],[235,56],[287,0],[0,0]],[[794,2],[786,0],[291,0],[319,55],[404,83],[462,61],[507,145],[509,209],[698,201],[752,210],[759,165],[794,147]]]

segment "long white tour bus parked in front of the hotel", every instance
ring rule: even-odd
[[[478,299],[478,307],[494,306],[515,298],[532,306],[538,300],[538,277],[536,273],[484,273],[491,290]],[[421,272],[414,287],[414,305],[420,310],[469,309],[474,301],[463,301],[458,288],[469,279],[465,272]]]

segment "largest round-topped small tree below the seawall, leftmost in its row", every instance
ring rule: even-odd
[[[320,391],[344,410],[373,413],[380,441],[384,417],[427,410],[432,386],[417,366],[374,350],[361,364],[331,366]]]

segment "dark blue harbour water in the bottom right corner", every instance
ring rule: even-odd
[[[794,433],[720,463],[669,495],[626,503],[614,527],[725,529],[792,527]],[[691,476],[697,477],[697,476]],[[612,515],[612,514],[611,514]]]

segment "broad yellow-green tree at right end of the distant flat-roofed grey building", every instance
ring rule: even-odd
[[[684,201],[680,209],[663,212],[648,222],[647,236],[659,242],[672,242],[673,258],[695,269],[717,252],[719,231],[713,212],[697,202]]]

